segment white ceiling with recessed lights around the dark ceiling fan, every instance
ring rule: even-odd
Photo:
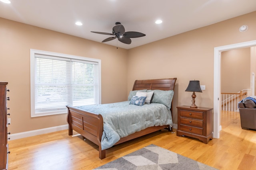
[[[101,42],[117,21],[126,31],[145,37],[130,45],[112,40],[106,44],[130,49],[172,35],[256,11],[256,0],[10,0],[0,2],[0,17]],[[154,23],[161,19],[162,24]],[[81,21],[82,26],[75,25]],[[246,23],[243,23],[246,24]],[[1,25],[0,25],[1,26]],[[239,29],[239,28],[237,28]],[[249,28],[250,29],[250,28]]]

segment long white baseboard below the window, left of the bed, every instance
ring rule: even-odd
[[[31,136],[36,136],[36,135],[42,135],[42,134],[45,134],[45,133],[62,131],[62,130],[65,130],[65,129],[68,129],[68,124],[67,125],[55,126],[55,127],[48,127],[48,128],[44,128],[44,129],[38,129],[38,130],[34,130],[34,131],[14,133],[14,134],[8,135],[8,137],[10,138],[10,141],[11,141],[11,140],[15,140],[15,139],[21,139],[21,138],[24,138],[24,137],[31,137]]]

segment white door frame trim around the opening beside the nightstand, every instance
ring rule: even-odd
[[[221,64],[221,52],[233,49],[245,48],[256,46],[255,41],[247,41],[243,43],[224,45],[221,47],[214,48],[214,96],[213,96],[213,108],[214,108],[214,118],[213,118],[213,137],[220,138],[220,64]]]

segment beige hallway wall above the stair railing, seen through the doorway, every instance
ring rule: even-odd
[[[222,93],[237,93],[240,90],[251,88],[250,51],[248,47],[221,53]]]

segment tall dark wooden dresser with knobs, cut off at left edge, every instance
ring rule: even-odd
[[[7,82],[0,82],[0,170],[6,170],[8,168],[8,144],[7,138],[7,100],[10,100],[6,97]],[[8,113],[8,115],[10,115]]]

